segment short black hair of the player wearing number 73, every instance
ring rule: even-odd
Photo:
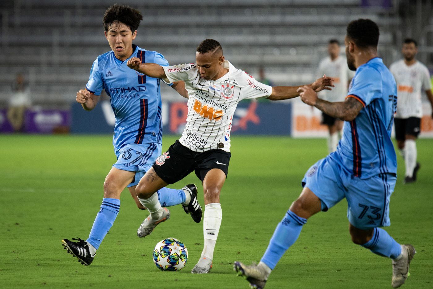
[[[361,48],[376,48],[379,43],[379,27],[370,19],[353,20],[347,25],[347,37]]]

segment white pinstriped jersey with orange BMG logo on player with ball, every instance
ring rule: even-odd
[[[187,124],[179,141],[192,151],[230,151],[233,113],[242,99],[268,97],[272,87],[258,82],[227,60],[217,80],[200,78],[196,63],[165,66],[168,82],[183,80],[188,91]]]

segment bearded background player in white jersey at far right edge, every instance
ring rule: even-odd
[[[389,69],[397,82],[395,138],[406,165],[404,182],[407,184],[417,180],[417,171],[420,168],[415,140],[420,134],[423,116],[421,95],[423,92],[427,94],[432,105],[432,115],[433,95],[429,70],[415,59],[418,52],[417,42],[414,39],[405,39],[401,52],[404,59],[394,62]]]

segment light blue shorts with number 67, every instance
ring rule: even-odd
[[[152,167],[156,158],[161,155],[162,145],[150,144],[126,144],[119,151],[115,151],[117,162],[113,167],[123,171],[135,171],[136,174],[131,184],[136,186],[146,171]]]

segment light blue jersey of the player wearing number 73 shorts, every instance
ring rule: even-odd
[[[375,57],[359,66],[347,97],[364,105],[351,122],[344,122],[343,138],[330,157],[351,172],[366,179],[377,174],[397,174],[397,157],[391,129],[397,108],[397,86],[382,59]]]

